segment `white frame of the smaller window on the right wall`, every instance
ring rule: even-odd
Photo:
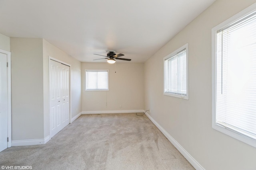
[[[166,92],[165,91],[165,86],[166,86],[166,84],[165,84],[166,83],[166,81],[165,81],[165,77],[166,77],[165,61],[167,59],[170,59],[170,58],[174,57],[177,53],[179,53],[180,51],[182,51],[184,49],[186,49],[186,95]],[[166,57],[164,57],[164,89],[163,89],[163,91],[164,91],[164,95],[166,95],[166,96],[172,96],[172,97],[182,98],[182,99],[188,100],[188,43],[186,43],[182,47],[178,48],[174,52],[172,52],[169,55],[167,55]]]

